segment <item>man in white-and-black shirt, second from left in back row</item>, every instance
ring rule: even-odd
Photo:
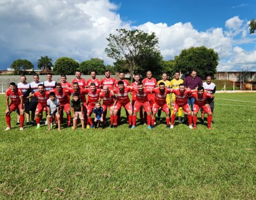
[[[38,91],[38,85],[43,84],[41,81],[39,81],[39,76],[37,74],[33,75],[34,81],[30,83],[31,88],[31,94],[34,94],[36,91]],[[29,110],[31,111],[31,124],[34,124],[34,118],[35,118],[35,111],[38,104],[37,97],[31,97],[29,102]]]

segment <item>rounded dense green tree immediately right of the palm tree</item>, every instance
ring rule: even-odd
[[[71,75],[79,69],[79,63],[73,58],[61,57],[58,58],[53,67],[53,73],[55,75]]]

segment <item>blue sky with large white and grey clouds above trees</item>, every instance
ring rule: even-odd
[[[15,14],[13,14],[15,13]],[[104,52],[117,28],[156,32],[165,60],[184,48],[205,45],[218,52],[219,71],[256,71],[255,0],[13,0],[0,3],[0,70],[13,60],[40,56],[79,62]],[[241,64],[242,63],[242,64]],[[244,65],[243,65],[244,63]]]

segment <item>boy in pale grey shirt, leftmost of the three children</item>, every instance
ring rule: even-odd
[[[60,115],[59,115],[59,99],[56,98],[54,92],[50,92],[49,99],[47,99],[47,116],[48,130],[53,127],[53,117],[57,118],[58,130],[60,130]]]

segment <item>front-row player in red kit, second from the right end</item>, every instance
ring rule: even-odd
[[[175,94],[176,100],[174,103],[174,108],[173,108],[173,114],[171,116],[171,129],[173,129],[173,124],[175,120],[176,113],[180,107],[183,108],[184,112],[188,115],[189,119],[189,128],[193,129],[192,127],[192,116],[191,116],[191,111],[190,107],[188,104],[188,97],[194,90],[190,89],[185,89],[184,84],[179,84],[179,89],[173,89],[172,93]]]

